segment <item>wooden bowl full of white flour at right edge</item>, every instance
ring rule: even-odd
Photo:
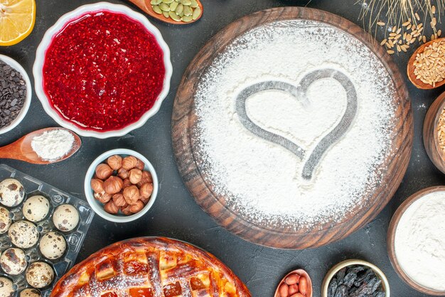
[[[388,253],[399,276],[417,291],[445,296],[445,187],[413,194],[388,230]]]

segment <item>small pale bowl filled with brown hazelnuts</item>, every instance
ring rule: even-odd
[[[104,152],[88,168],[85,196],[100,217],[126,223],[151,209],[158,194],[153,165],[139,152],[116,149]]]

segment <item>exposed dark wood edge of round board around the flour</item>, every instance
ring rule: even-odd
[[[289,14],[291,15],[289,16]],[[272,16],[274,17],[272,18]],[[242,24],[248,23],[251,19],[258,21],[258,24],[254,24],[253,26],[243,25],[242,31],[237,31],[236,34],[230,33],[232,36],[232,39],[230,39],[230,41],[233,40],[234,38],[233,35],[235,35],[236,38],[237,36],[241,36],[243,33],[250,31],[252,28],[255,28],[256,26],[271,24],[275,21],[289,21],[294,19],[317,21],[318,23],[327,24],[328,26],[337,28],[338,30],[342,31],[345,34],[348,34],[349,36],[353,36],[353,38],[356,38],[358,41],[360,41],[360,43],[363,43],[364,46],[369,48],[370,51],[375,53],[379,61],[385,67],[385,71],[390,73],[392,84],[395,86],[396,90],[395,92],[396,97],[394,101],[397,101],[398,103],[404,105],[403,108],[405,108],[406,111],[403,111],[402,113],[406,113],[406,116],[404,115],[406,119],[405,122],[412,123],[412,108],[409,100],[409,93],[407,91],[406,83],[404,83],[401,72],[398,70],[394,61],[392,61],[392,59],[386,53],[386,51],[384,51],[382,47],[375,40],[371,40],[370,36],[368,36],[368,34],[365,33],[365,31],[363,31],[363,28],[360,28],[360,26],[353,24],[351,21],[348,21],[347,19],[344,19],[341,16],[332,14],[327,11],[322,11],[319,9],[310,9],[306,7],[288,6],[288,7],[277,7],[273,9],[265,9],[244,16],[241,19],[237,19],[236,21],[233,21],[231,24],[225,26],[225,28],[221,29],[218,33],[216,33],[215,36],[213,36],[213,38],[210,38],[208,43],[206,43],[205,46],[201,48],[200,52],[195,56],[195,58],[193,58],[193,60],[189,64],[180,83],[183,90],[188,90],[188,89],[193,90],[195,88],[194,83],[187,84],[187,82],[190,82],[189,72],[191,71],[191,67],[196,65],[201,65],[203,63],[202,53],[203,52],[206,53],[207,51],[214,51],[212,49],[209,50],[210,45],[218,46],[218,51],[215,51],[214,54],[223,51],[224,48],[227,48],[230,41],[219,41],[220,38],[225,37],[225,34],[228,34],[227,33],[228,29],[231,29],[233,31],[234,27],[236,28],[236,26],[242,26]],[[196,73],[197,71],[195,68],[196,67],[193,67],[193,71],[195,71]],[[200,72],[199,76],[202,75],[203,69],[198,68],[198,72]],[[397,135],[395,136],[395,141],[392,145],[392,149],[398,150],[400,147],[397,147],[395,145],[395,142],[400,141],[402,135],[405,136],[404,142],[406,142],[406,145],[402,145],[403,150],[400,150],[400,153],[398,154],[402,155],[402,157],[397,157],[397,160],[399,162],[391,166],[391,172],[393,173],[392,174],[393,176],[391,176],[391,174],[386,174],[385,180],[382,182],[382,184],[387,184],[387,182],[392,181],[394,182],[394,184],[397,184],[397,187],[395,187],[395,189],[390,189],[390,190],[386,190],[387,187],[385,187],[385,189],[381,189],[377,196],[380,197],[379,201],[382,203],[378,205],[375,209],[368,209],[368,211],[362,210],[359,214],[357,214],[355,217],[357,217],[358,219],[355,220],[355,224],[352,229],[348,229],[348,231],[340,231],[342,226],[350,223],[350,220],[335,224],[335,226],[325,226],[323,227],[323,229],[309,230],[309,231],[303,230],[298,232],[286,229],[273,229],[267,226],[260,226],[259,224],[252,224],[252,222],[249,222],[246,219],[239,217],[231,209],[228,209],[227,206],[224,205],[220,201],[220,199],[217,198],[218,195],[216,195],[215,192],[213,192],[211,185],[208,184],[208,182],[206,182],[203,179],[202,173],[199,171],[198,168],[196,168],[193,173],[196,173],[200,176],[201,182],[205,187],[205,191],[210,193],[210,195],[213,197],[213,202],[209,204],[210,202],[205,202],[204,201],[205,199],[201,197],[202,196],[201,194],[196,194],[193,192],[193,184],[196,183],[195,177],[192,177],[193,174],[191,174],[191,172],[183,172],[182,167],[185,166],[185,162],[181,162],[181,157],[180,155],[178,155],[181,150],[176,149],[176,145],[179,145],[180,142],[183,143],[183,145],[186,146],[186,153],[191,154],[191,160],[193,161],[194,164],[196,164],[195,150],[193,149],[193,140],[191,137],[192,135],[190,133],[191,130],[190,127],[193,126],[191,124],[193,124],[194,116],[193,116],[193,110],[189,110],[188,113],[182,112],[179,114],[180,117],[176,117],[175,110],[177,108],[180,108],[178,105],[183,104],[182,102],[183,100],[181,100],[181,103],[179,103],[180,99],[181,99],[181,92],[178,91],[178,93],[176,93],[175,102],[173,103],[173,115],[172,115],[171,125],[172,125],[172,131],[174,132],[177,125],[181,126],[179,123],[181,123],[182,121],[186,121],[188,123],[188,128],[181,132],[181,137],[179,137],[179,140],[175,140],[174,135],[172,135],[173,152],[175,153],[176,163],[178,164],[178,170],[181,176],[183,177],[186,186],[188,187],[189,191],[191,192],[195,201],[200,205],[200,207],[203,208],[205,212],[210,214],[210,217],[215,219],[215,221],[218,222],[218,224],[224,226],[225,229],[228,229],[232,233],[237,234],[242,239],[253,242],[254,244],[259,244],[262,246],[268,246],[272,248],[280,248],[280,249],[306,249],[309,247],[317,247],[321,245],[326,245],[333,241],[341,240],[346,236],[350,235],[351,233],[353,233],[353,231],[357,231],[358,229],[362,228],[365,224],[368,224],[368,222],[371,222],[372,219],[374,219],[377,216],[377,214],[380,213],[380,211],[385,207],[387,202],[389,202],[392,196],[395,194],[395,191],[397,190],[397,187],[400,185],[400,182],[402,182],[404,173],[407,170],[409,156],[411,155],[412,151],[412,139],[414,132],[413,132],[413,125],[409,125],[408,127],[406,124],[402,124],[402,132],[397,133]],[[191,98],[191,100],[193,100],[193,98]],[[183,118],[186,118],[186,120],[182,120]],[[385,162],[391,164],[392,163],[391,160],[394,160],[395,157],[396,155],[387,156]],[[404,160],[406,160],[406,162],[404,162]],[[210,207],[211,209],[220,209],[220,212],[218,212],[218,216],[213,214],[213,211],[210,210]],[[365,214],[368,217],[365,216]],[[232,222],[225,223],[225,220],[227,219],[231,219]],[[237,224],[234,223],[235,221],[239,222],[239,225],[242,226],[237,226]],[[262,236],[261,239],[252,238],[252,236],[246,235],[246,230],[252,232],[262,232],[266,234]],[[337,230],[337,232],[336,234],[333,234],[333,236],[329,236],[329,238],[326,238],[326,236],[323,235],[326,234],[326,231],[329,230]],[[299,240],[301,236],[306,236],[307,234],[313,234],[314,236],[317,236],[318,239],[323,239],[323,240],[321,240],[322,241],[321,243],[319,243],[320,240],[313,242],[304,242]],[[293,239],[292,243],[275,240],[279,236],[288,236],[288,237],[291,236]],[[273,243],[271,243],[272,240]]]

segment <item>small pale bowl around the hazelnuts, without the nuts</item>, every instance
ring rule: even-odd
[[[105,162],[108,157],[111,157],[112,155],[120,155],[122,157],[127,157],[129,155],[134,156],[144,162],[145,167],[144,170],[151,173],[151,177],[153,178],[153,193],[151,193],[151,197],[149,200],[149,203],[146,204],[146,206],[141,209],[140,212],[137,214],[132,214],[131,216],[124,216],[123,214],[109,214],[108,212],[104,211],[104,204],[100,203],[95,199],[93,196],[93,191],[91,189],[91,179],[95,175],[95,170],[97,165],[100,165],[100,163]],[[154,204],[154,201],[156,200],[156,196],[158,195],[158,176],[156,175],[156,171],[154,170],[153,165],[149,162],[149,160],[146,159],[143,155],[139,154],[139,152],[135,152],[134,150],[127,150],[127,149],[116,149],[116,150],[109,150],[108,152],[104,152],[102,155],[96,158],[91,165],[90,168],[88,168],[87,174],[85,175],[85,196],[87,197],[87,201],[92,207],[92,210],[95,211],[96,214],[99,214],[100,217],[107,219],[111,222],[116,223],[127,223],[132,222],[136,219],[139,219],[142,217],[146,212],[151,209],[151,207]]]

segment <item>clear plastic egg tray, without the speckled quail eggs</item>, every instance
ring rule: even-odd
[[[58,232],[59,234],[62,234],[63,237],[65,237],[65,241],[67,244],[65,254],[63,254],[62,257],[56,260],[46,259],[41,254],[41,251],[38,249],[38,244],[29,249],[23,249],[26,254],[26,259],[28,260],[28,266],[35,261],[44,261],[53,267],[53,282],[50,284],[50,286],[38,289],[43,297],[48,297],[55,283],[60,279],[60,277],[67,273],[68,269],[70,269],[75,263],[77,254],[79,254],[80,247],[82,246],[85,235],[87,234],[88,228],[90,227],[92,218],[95,214],[92,211],[90,205],[87,204],[87,202],[73,197],[66,192],[60,191],[60,189],[56,189],[50,184],[41,182],[40,180],[31,177],[28,174],[24,174],[22,172],[19,172],[18,170],[15,170],[14,168],[2,164],[0,165],[0,182],[7,178],[17,179],[23,184],[23,188],[25,189],[25,198],[23,199],[23,202],[25,202],[28,197],[38,194],[46,197],[50,202],[50,212],[47,218],[41,222],[34,223],[36,224],[39,232],[39,241],[44,234],[50,231]],[[9,209],[13,223],[25,219],[21,209],[21,207],[23,206],[23,202],[17,207],[6,207],[6,209]],[[58,205],[60,204],[71,204],[79,212],[79,224],[77,224],[76,228],[72,231],[60,231],[53,224],[53,211],[55,207],[58,207]],[[3,251],[5,251],[6,249],[9,249],[10,247],[14,247],[14,244],[11,243],[11,239],[9,239],[8,233],[6,232],[5,234],[0,234],[1,253],[3,253]],[[26,270],[18,276],[11,276],[5,273],[5,271],[1,270],[0,268],[0,276],[5,276],[6,278],[11,279],[11,281],[13,281],[14,283],[16,293],[13,297],[18,296],[18,293],[23,291],[23,289],[25,288],[33,288],[27,283],[25,273]]]

